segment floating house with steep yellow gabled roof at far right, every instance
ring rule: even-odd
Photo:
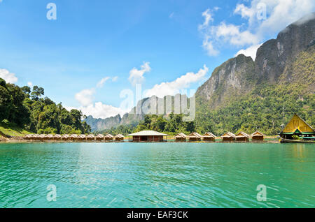
[[[291,140],[297,135],[304,140],[314,140],[315,131],[304,119],[294,114],[280,133],[281,138]]]

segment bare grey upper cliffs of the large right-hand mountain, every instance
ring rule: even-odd
[[[290,80],[290,67],[300,54],[315,43],[315,13],[290,24],[276,39],[267,40],[257,50],[255,61],[243,54],[218,66],[211,77],[197,89],[197,105],[206,101],[209,108],[224,105],[239,94],[246,94],[258,84]],[[292,73],[291,73],[292,74]]]

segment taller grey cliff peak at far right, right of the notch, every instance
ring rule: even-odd
[[[314,44],[315,13],[303,17],[281,31],[276,39],[268,40],[257,50],[255,73],[262,82],[276,83],[286,66],[300,52]]]

